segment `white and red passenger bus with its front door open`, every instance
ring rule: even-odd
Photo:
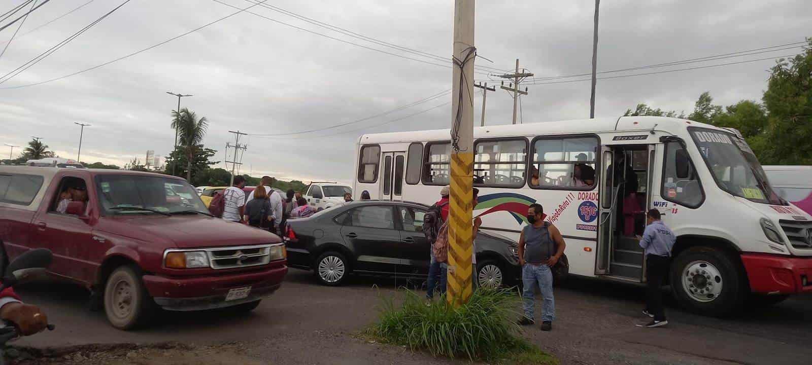
[[[645,281],[634,236],[657,208],[677,235],[669,281],[685,307],[723,315],[751,298],[812,293],[812,217],[775,194],[738,131],[622,117],[475,127],[473,137],[482,229],[518,240],[529,204],[542,204],[572,274]],[[433,204],[449,183],[449,139],[361,135],[353,190]]]

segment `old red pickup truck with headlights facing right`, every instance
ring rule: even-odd
[[[211,217],[184,179],[0,166],[0,262],[39,247],[122,329],[158,307],[251,311],[287,273],[279,237]]]

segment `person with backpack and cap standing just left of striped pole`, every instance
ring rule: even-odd
[[[450,195],[451,187],[445,186],[440,190],[440,200],[432,205],[428,212],[423,216],[423,234],[425,234],[426,242],[430,243],[429,255],[431,262],[429,264],[429,278],[426,281],[425,298],[431,300],[434,298],[434,290],[439,289],[440,294],[446,293],[446,272],[447,264],[440,262],[434,256],[434,243],[443,229],[443,223],[448,219],[448,196]],[[439,288],[437,288],[439,283]]]

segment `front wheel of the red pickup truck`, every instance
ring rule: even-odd
[[[104,309],[107,320],[115,328],[136,328],[149,318],[154,307],[138,273],[137,268],[121,266],[107,277]]]

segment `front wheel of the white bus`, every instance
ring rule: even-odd
[[[746,281],[733,258],[712,247],[692,247],[671,267],[671,288],[683,307],[702,315],[725,316],[738,311]]]

